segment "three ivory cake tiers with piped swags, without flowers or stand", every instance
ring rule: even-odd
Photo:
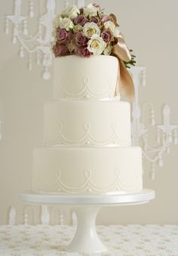
[[[130,147],[130,104],[114,97],[117,70],[112,56],[54,60],[54,100],[44,106],[44,147],[34,151],[33,191],[142,190],[142,152]]]

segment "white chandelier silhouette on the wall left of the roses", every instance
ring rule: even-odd
[[[42,0],[44,2],[44,0]],[[40,4],[40,0],[38,0]],[[64,7],[69,4],[77,4],[79,7],[84,6],[83,0],[74,2],[63,1]],[[53,63],[53,55],[51,54],[51,42],[54,40],[52,34],[52,21],[60,9],[60,0],[47,0],[46,12],[38,18],[38,29],[33,35],[29,35],[29,19],[35,17],[34,2],[29,0],[29,14],[24,16],[21,14],[22,0],[14,0],[14,14],[7,15],[5,20],[5,33],[9,34],[11,22],[13,27],[13,44],[19,45],[19,54],[23,58],[28,56],[29,71],[32,70],[32,63],[35,60],[38,66],[42,66],[42,78],[50,79],[51,73],[49,68]],[[38,10],[38,13],[40,11]]]

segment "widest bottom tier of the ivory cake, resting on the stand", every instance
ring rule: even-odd
[[[140,147],[43,147],[34,150],[35,193],[115,194],[143,189]]]

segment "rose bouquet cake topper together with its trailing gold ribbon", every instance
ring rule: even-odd
[[[89,4],[78,8],[69,5],[54,18],[54,42],[51,48],[55,57],[77,55],[112,55],[119,60],[119,87],[130,99],[134,97],[133,82],[127,67],[135,65],[132,50],[127,48],[124,37],[119,31],[115,14],[106,15],[100,5]],[[118,94],[116,88],[116,94]]]

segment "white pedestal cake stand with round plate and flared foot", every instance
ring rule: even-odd
[[[96,230],[97,213],[103,206],[139,205],[155,198],[155,191],[142,190],[140,193],[109,196],[70,196],[65,194],[21,193],[23,202],[32,204],[72,205],[77,216],[77,230],[66,251],[101,253],[108,251],[100,241]]]

